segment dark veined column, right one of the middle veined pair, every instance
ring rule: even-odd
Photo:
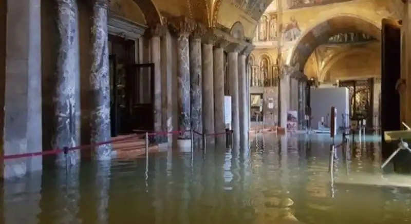
[[[190,98],[191,98],[191,125],[196,132],[202,133],[202,62],[201,37],[206,28],[196,24],[190,38]],[[196,136],[196,143],[198,135]]]

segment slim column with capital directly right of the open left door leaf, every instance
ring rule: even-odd
[[[162,128],[162,95],[161,95],[161,83],[163,82],[161,78],[161,43],[160,36],[164,33],[164,28],[161,24],[156,24],[148,28],[150,32],[150,56],[151,62],[154,64],[154,131],[161,132]],[[157,143],[166,142],[166,136],[156,136],[155,141]]]

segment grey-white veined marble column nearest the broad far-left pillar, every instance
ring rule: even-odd
[[[80,54],[78,6],[75,0],[58,0],[57,26],[60,46],[57,59],[57,87],[53,97],[55,133],[53,148],[72,147],[80,143]],[[108,58],[107,58],[108,66]],[[109,129],[108,129],[109,130]],[[80,159],[79,151],[71,151],[68,164]],[[57,156],[56,164],[65,166],[63,153]]]

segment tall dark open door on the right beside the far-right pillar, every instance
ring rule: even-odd
[[[401,77],[400,24],[384,18],[381,35],[381,136],[382,156],[387,158],[394,149],[385,142],[384,131],[401,129],[400,95],[396,90]]]

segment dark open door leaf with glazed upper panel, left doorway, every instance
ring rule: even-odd
[[[154,64],[129,65],[126,77],[128,129],[154,131]]]

